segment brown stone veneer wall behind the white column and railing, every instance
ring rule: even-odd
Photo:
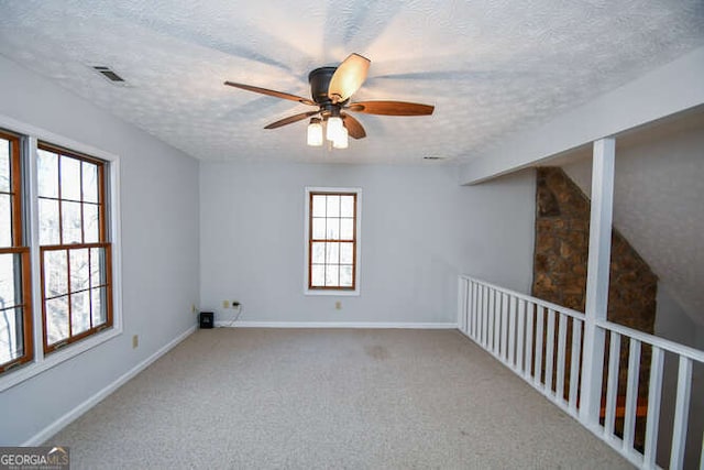
[[[537,178],[532,295],[584,311],[590,199],[560,167],[538,168]],[[608,320],[653,334],[658,277],[616,229],[612,231],[609,275]],[[566,343],[570,349],[571,338]],[[628,343],[623,341],[620,395],[626,392],[627,363]],[[641,397],[647,396],[649,374],[650,350],[644,348],[638,386]],[[565,382],[566,390],[569,379]]]

